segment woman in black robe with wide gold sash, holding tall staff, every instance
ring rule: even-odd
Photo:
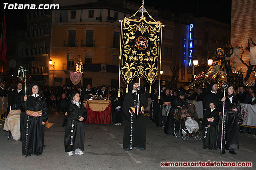
[[[27,100],[27,111],[25,100]],[[37,84],[30,85],[28,96],[24,96],[24,101],[20,105],[21,114],[21,136],[22,155],[41,155],[44,147],[44,125],[48,120],[45,100],[39,91]],[[26,115],[27,113],[27,115]],[[27,116],[27,153],[26,153],[26,124]]]

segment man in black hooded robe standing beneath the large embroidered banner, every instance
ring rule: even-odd
[[[129,84],[130,92],[124,96],[123,111],[126,116],[124,125],[123,148],[126,152],[136,147],[137,150],[146,151],[146,125],[143,107],[148,103],[146,96],[138,90],[138,81]],[[139,112],[137,104],[139,95]],[[135,108],[135,109],[134,109]]]

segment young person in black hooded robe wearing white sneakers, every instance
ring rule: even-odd
[[[66,107],[64,145],[65,152],[68,152],[68,156],[73,155],[73,150],[75,150],[75,154],[84,154],[82,152],[84,150],[84,119],[86,119],[87,110],[79,100],[80,94],[72,92],[70,102]]]

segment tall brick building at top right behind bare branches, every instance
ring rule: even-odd
[[[254,43],[256,42],[256,3],[254,0],[232,0],[232,11],[231,11],[231,43],[233,47],[244,47],[244,54],[242,56],[243,61],[249,65],[250,52],[246,48],[248,46],[249,38],[252,38]],[[250,40],[250,46],[252,45]],[[242,55],[242,49],[240,49],[240,56]],[[235,58],[236,59],[236,58]],[[232,59],[232,68],[234,66]],[[237,70],[244,72],[243,77],[246,76],[247,66],[242,64],[239,59],[235,60],[235,67]],[[254,72],[250,74],[248,82],[254,82]]]

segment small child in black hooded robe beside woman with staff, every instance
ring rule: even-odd
[[[219,122],[219,113],[215,109],[214,103],[210,103],[210,109],[207,109],[204,115],[204,134],[203,134],[203,149],[214,149],[217,137],[217,129]]]

